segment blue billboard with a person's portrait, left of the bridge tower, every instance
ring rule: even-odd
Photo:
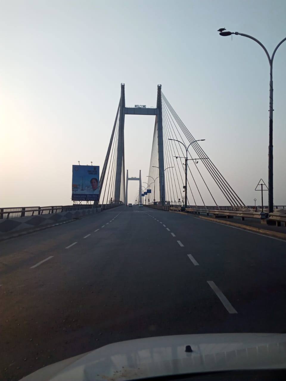
[[[98,165],[73,165],[72,200],[98,201],[99,181]]]

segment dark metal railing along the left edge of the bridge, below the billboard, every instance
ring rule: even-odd
[[[76,211],[83,209],[101,208],[106,210],[118,207],[121,204],[103,204],[103,205],[61,205],[50,207],[18,207],[18,208],[0,208],[0,219],[20,218],[29,216],[39,216],[67,211]]]

